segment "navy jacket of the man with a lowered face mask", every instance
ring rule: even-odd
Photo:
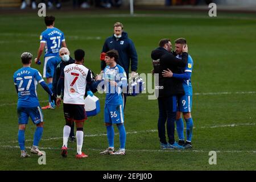
[[[110,36],[105,40],[104,46],[101,52],[108,52],[112,49],[118,51],[119,58],[117,64],[121,65],[125,69],[126,75],[129,75],[129,68],[131,63],[131,71],[137,71],[138,65],[138,56],[134,43],[131,39],[128,38],[126,32],[122,32],[120,39],[116,39],[115,36]],[[130,62],[131,61],[131,62]],[[106,67],[105,61],[101,61],[101,70],[104,70]]]

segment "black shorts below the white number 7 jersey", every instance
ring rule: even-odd
[[[83,122],[87,119],[84,105],[63,104],[64,117],[75,122]]]

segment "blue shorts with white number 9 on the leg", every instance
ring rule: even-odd
[[[190,113],[192,110],[192,96],[177,97],[177,111]]]

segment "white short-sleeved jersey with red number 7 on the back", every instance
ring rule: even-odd
[[[92,81],[89,69],[81,64],[69,64],[61,72],[61,77],[64,77],[63,103],[84,105],[86,84]]]

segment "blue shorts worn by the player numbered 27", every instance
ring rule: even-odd
[[[18,123],[19,125],[27,125],[28,117],[37,125],[43,122],[43,112],[40,106],[37,107],[18,107]]]

